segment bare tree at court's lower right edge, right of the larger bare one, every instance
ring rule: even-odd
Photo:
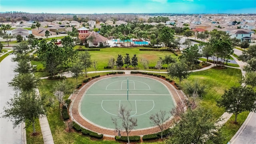
[[[163,131],[166,128],[164,125],[164,122],[168,120],[169,116],[165,118],[166,116],[166,111],[160,110],[160,112],[156,114],[151,114],[149,119],[151,120],[151,123],[154,124],[155,126],[158,126],[158,128],[161,130],[161,140],[163,139]]]

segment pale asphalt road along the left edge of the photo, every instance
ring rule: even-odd
[[[16,66],[16,63],[11,61],[13,56],[7,56],[0,63],[0,113],[14,94],[12,88],[8,86],[8,82],[15,74],[12,71]],[[21,128],[13,128],[12,122],[5,118],[0,118],[0,144],[22,144]]]

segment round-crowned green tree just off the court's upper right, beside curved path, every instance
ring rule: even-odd
[[[168,67],[168,75],[178,78],[181,82],[189,76],[188,65],[184,61],[173,63]]]

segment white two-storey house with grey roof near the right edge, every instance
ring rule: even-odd
[[[248,41],[252,42],[252,34],[249,32],[245,32],[244,30],[231,30],[228,32],[230,35],[230,38],[237,38],[240,39],[241,41]]]

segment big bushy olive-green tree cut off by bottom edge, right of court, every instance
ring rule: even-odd
[[[218,130],[212,112],[203,108],[188,109],[171,130],[167,144],[220,144],[224,137]]]

